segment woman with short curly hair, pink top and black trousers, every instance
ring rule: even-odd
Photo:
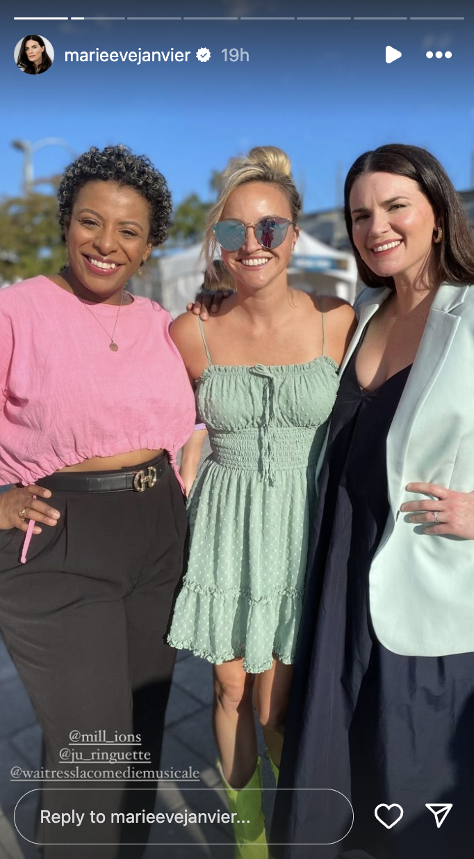
[[[165,240],[171,196],[147,158],[112,146],[71,164],[58,198],[68,264],[0,294],[0,483],[16,484],[0,496],[0,629],[44,731],[44,767],[62,771],[53,778],[78,753],[93,758],[87,743],[117,738],[141,744],[156,771],[186,531],[176,454],[195,406],[170,315],[126,284]],[[71,743],[76,758],[63,760]],[[89,767],[96,779],[112,769]],[[151,811],[154,792],[113,788],[47,792],[49,812],[85,818],[69,832],[43,815],[45,859],[77,856],[79,840],[87,859],[120,855],[118,824],[87,825],[89,810],[107,821],[133,801]],[[141,856],[147,827],[127,832],[142,844],[126,855]]]

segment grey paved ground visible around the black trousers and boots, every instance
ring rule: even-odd
[[[161,769],[192,766],[200,772],[200,781],[192,792],[182,786],[179,791],[159,792],[159,810],[177,811],[181,807],[196,811],[224,810],[225,800],[218,794],[219,777],[214,769],[216,748],[211,728],[212,681],[207,662],[183,651],[178,656],[165,730],[165,746]],[[15,805],[20,797],[38,787],[36,783],[10,780],[12,766],[35,769],[39,766],[41,732],[36,722],[27,692],[16,673],[15,666],[0,639],[0,859],[39,859],[32,844],[16,832],[13,821]],[[272,777],[265,762],[265,783]],[[163,783],[170,787],[173,783]],[[211,788],[199,794],[195,788]],[[271,794],[266,795],[267,803]],[[26,801],[26,834],[33,840],[38,793]],[[22,801],[22,805],[25,801]],[[267,804],[266,803],[266,804]],[[154,825],[146,859],[231,859],[231,829],[228,825]],[[157,846],[171,843],[173,846]],[[220,842],[220,844],[217,844]],[[192,846],[191,846],[192,845]],[[85,859],[87,854],[85,854]]]

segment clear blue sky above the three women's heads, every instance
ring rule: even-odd
[[[398,141],[437,155],[459,188],[471,186],[474,16],[466,0],[449,14],[465,21],[14,21],[37,15],[38,3],[11,5],[3,15],[0,193],[21,185],[15,138],[62,137],[77,153],[95,144],[128,143],[165,174],[173,198],[208,196],[213,168],[231,155],[272,143],[291,155],[305,209],[340,203],[345,171],[365,149]],[[416,9],[414,8],[416,7]],[[421,8],[423,7],[423,9]],[[438,9],[438,13],[436,12]],[[55,0],[43,15],[196,15],[196,4],[92,3]],[[199,6],[200,15],[371,15],[380,4],[308,0],[227,0]],[[385,10],[387,11],[387,10]],[[396,15],[447,15],[446,5],[413,3]],[[51,40],[55,62],[45,75],[16,69],[15,44],[29,33]],[[385,62],[385,47],[402,52]],[[208,63],[195,52],[211,51]],[[188,63],[65,63],[68,50],[189,50]],[[225,47],[242,47],[249,62],[224,62]],[[426,51],[453,52],[427,59]],[[36,178],[57,173],[68,152],[34,155]]]

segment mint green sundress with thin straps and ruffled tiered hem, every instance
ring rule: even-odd
[[[324,354],[303,364],[213,364],[197,381],[212,454],[189,495],[189,559],[168,642],[261,673],[294,660],[315,466],[339,386]]]

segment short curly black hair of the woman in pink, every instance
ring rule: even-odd
[[[57,192],[62,227],[69,225],[77,192],[93,180],[134,188],[150,205],[150,244],[157,246],[165,241],[171,227],[172,210],[165,177],[146,155],[133,155],[123,144],[106,146],[102,151],[93,146],[66,168]]]

